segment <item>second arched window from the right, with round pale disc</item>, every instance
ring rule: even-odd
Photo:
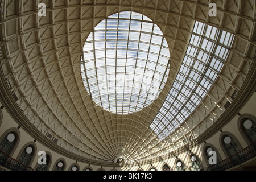
[[[228,156],[232,156],[240,152],[237,142],[228,134],[222,137],[222,146],[225,148]]]

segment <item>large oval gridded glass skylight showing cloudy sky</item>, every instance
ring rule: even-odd
[[[81,74],[98,106],[131,114],[150,105],[166,84],[170,52],[160,28],[130,11],[102,20],[84,44]]]

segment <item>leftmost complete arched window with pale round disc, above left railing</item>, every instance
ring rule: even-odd
[[[5,154],[10,155],[13,150],[14,144],[16,142],[16,134],[14,132],[10,132],[1,140],[0,142],[0,150],[5,152]]]

